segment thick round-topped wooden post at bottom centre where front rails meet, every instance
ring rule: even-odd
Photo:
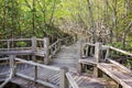
[[[68,69],[66,67],[61,68],[59,88],[68,88],[68,80],[66,78],[67,72],[68,72]]]

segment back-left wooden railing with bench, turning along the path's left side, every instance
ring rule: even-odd
[[[44,64],[50,64],[51,58],[61,50],[63,43],[66,45],[73,43],[73,36],[59,38],[52,45],[50,45],[48,37],[0,40],[0,54],[36,55],[44,58]]]

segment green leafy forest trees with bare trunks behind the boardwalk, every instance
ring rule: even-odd
[[[0,0],[0,38],[62,36],[58,30],[124,47],[132,41],[132,0]]]

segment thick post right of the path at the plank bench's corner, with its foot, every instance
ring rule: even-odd
[[[95,58],[96,58],[97,65],[100,62],[100,50],[101,50],[101,44],[100,43],[96,43],[96,46],[95,46]],[[94,76],[95,77],[101,76],[101,73],[97,68],[97,66],[94,66]]]

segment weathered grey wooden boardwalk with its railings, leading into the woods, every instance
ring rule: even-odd
[[[44,48],[33,50],[33,47],[29,52],[2,51],[1,55],[9,55],[10,57],[3,58],[7,64],[0,65],[1,81],[7,79],[10,74],[9,70],[12,68],[14,69],[14,75],[10,81],[25,88],[43,88],[44,86],[50,88],[132,88],[132,72],[119,63],[108,59],[108,47],[89,43],[81,47],[81,41],[70,46],[58,46],[61,41],[58,40],[50,45],[48,48],[44,46],[47,52]],[[100,57],[100,51],[107,51],[105,58]],[[127,53],[124,51],[121,52]],[[52,59],[52,64],[44,65],[31,59],[15,57],[16,55],[29,54],[33,55],[33,58],[35,56],[46,58],[46,64]],[[129,53],[129,55],[131,54]],[[106,58],[109,63],[106,62]],[[80,72],[81,67],[87,69],[89,65],[94,68],[92,74]],[[99,70],[111,79],[97,77]],[[69,87],[67,87],[67,82],[69,82]]]

